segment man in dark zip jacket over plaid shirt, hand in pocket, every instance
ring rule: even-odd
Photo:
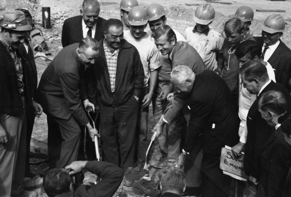
[[[125,169],[134,163],[136,124],[145,74],[138,50],[123,39],[120,20],[107,21],[104,37],[99,41],[98,64],[90,68],[100,110],[102,159]]]

